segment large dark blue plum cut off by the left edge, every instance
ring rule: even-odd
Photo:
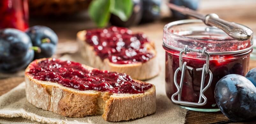
[[[34,57],[29,36],[17,29],[0,30],[0,72],[24,69]]]

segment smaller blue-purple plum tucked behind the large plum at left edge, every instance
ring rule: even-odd
[[[48,58],[55,53],[58,37],[52,29],[46,26],[33,26],[26,33],[35,50],[34,59]]]

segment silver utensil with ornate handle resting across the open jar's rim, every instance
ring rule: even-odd
[[[174,11],[178,11],[184,15],[201,19],[208,26],[216,26],[220,28],[230,37],[236,40],[249,40],[253,36],[253,32],[250,28],[247,28],[234,22],[228,22],[223,19],[220,19],[219,16],[215,13],[202,15],[186,7],[177,6],[171,3],[168,3],[167,5]]]

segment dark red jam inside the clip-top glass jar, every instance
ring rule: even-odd
[[[165,90],[167,96],[171,99],[172,94],[177,91],[173,83],[173,75],[177,68],[179,68],[179,51],[175,51],[164,47],[165,52]],[[222,47],[220,47],[222,48]],[[236,49],[234,47],[234,49]],[[207,104],[196,108],[214,109],[216,101],[214,98],[214,89],[216,83],[224,76],[228,74],[239,74],[245,76],[249,71],[249,53],[232,54],[232,55],[211,55],[209,69],[213,74],[211,86],[204,92],[207,98]],[[195,58],[195,56],[183,57],[183,62],[187,62],[187,66],[193,68],[193,70],[186,69],[184,83],[181,92],[181,100],[188,102],[198,102],[201,84],[202,71],[196,71],[196,68],[201,68],[205,63],[205,59]],[[181,72],[177,74],[177,83],[179,84],[181,78]],[[205,76],[204,86],[207,85],[209,75]],[[177,97],[175,99],[178,99]]]

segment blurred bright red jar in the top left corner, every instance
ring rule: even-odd
[[[1,0],[0,17],[0,29],[16,28],[25,31],[28,28],[27,0]]]

